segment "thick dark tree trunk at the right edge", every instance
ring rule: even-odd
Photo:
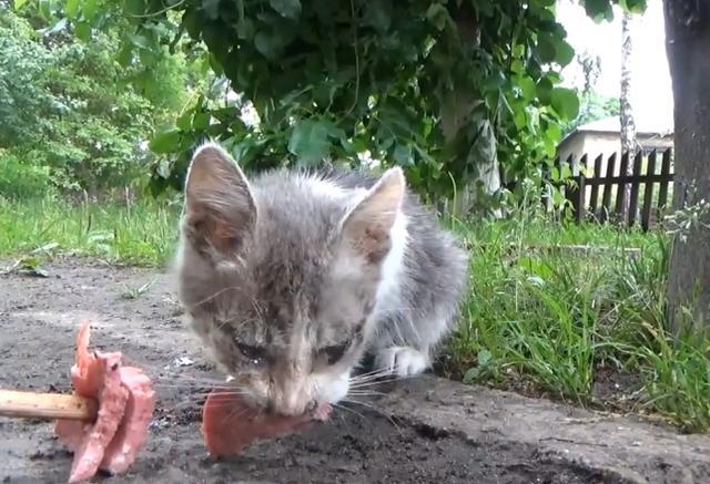
[[[666,50],[673,83],[673,206],[706,205],[710,198],[710,6],[665,0]],[[708,328],[710,316],[710,213],[673,240],[668,289],[671,328]],[[690,317],[688,317],[688,315]]]

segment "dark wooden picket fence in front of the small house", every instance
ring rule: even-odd
[[[648,230],[662,217],[669,206],[669,185],[673,181],[672,148],[648,154],[639,151],[632,161],[630,158],[629,153],[623,153],[617,169],[616,153],[606,159],[606,166],[604,155],[599,155],[594,162],[592,177],[585,175],[590,168],[587,155],[580,158],[579,175],[574,176],[575,183],[565,188],[575,220],[591,219],[628,226],[640,222],[643,230]],[[571,156],[565,163],[572,168]],[[627,175],[629,163],[633,164],[631,175]],[[656,184],[659,185],[657,197],[653,196]]]

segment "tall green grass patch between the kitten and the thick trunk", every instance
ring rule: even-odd
[[[710,430],[710,347],[667,330],[663,234],[524,216],[457,229],[471,250],[471,289],[448,375]]]

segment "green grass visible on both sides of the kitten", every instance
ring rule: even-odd
[[[0,199],[0,257],[71,253],[162,266],[174,250],[179,209],[150,200]],[[667,331],[665,235],[525,213],[455,229],[470,249],[471,285],[443,373],[710,430],[708,341],[677,341]],[[580,245],[604,250],[565,248]],[[637,257],[629,247],[639,249]],[[143,290],[126,288],[124,297]]]

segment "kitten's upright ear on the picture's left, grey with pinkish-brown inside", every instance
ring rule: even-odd
[[[193,241],[232,255],[255,220],[254,197],[236,162],[217,144],[197,148],[185,182],[185,224]]]

